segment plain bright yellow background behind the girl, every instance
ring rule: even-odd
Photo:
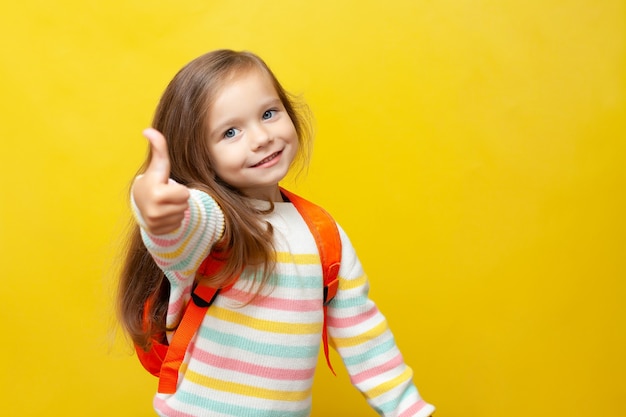
[[[3,5],[0,413],[152,415],[111,332],[126,187],[166,83],[228,47],[315,112],[292,188],[350,234],[438,416],[625,416],[625,23],[623,0]],[[320,366],[313,415],[374,413]]]

